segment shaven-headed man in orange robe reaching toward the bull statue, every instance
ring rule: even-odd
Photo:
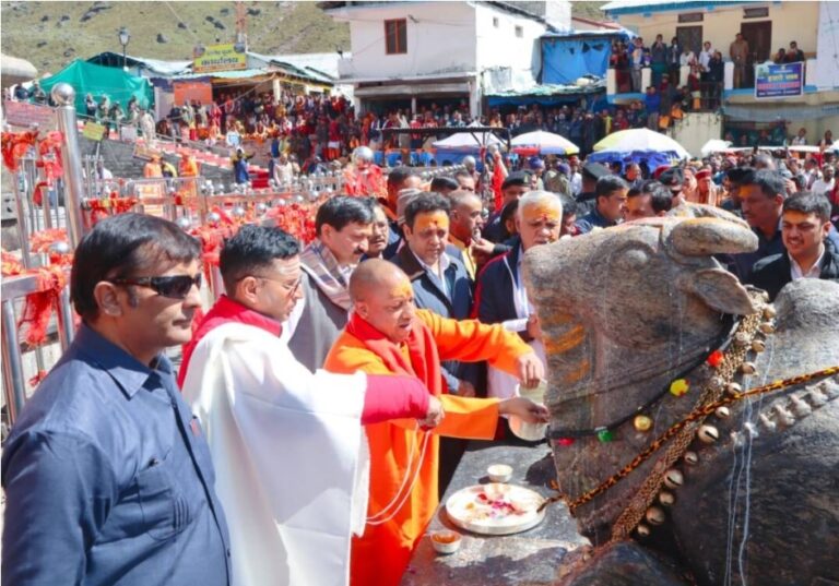
[[[353,314],[324,368],[414,375],[439,397],[446,412],[435,433],[405,420],[365,426],[370,498],[364,535],[353,539],[351,584],[394,586],[437,509],[438,435],[492,439],[499,415],[547,420],[544,407],[522,397],[498,400],[444,394],[440,360],[488,360],[516,373],[528,386],[544,376],[544,366],[527,344],[500,325],[417,310],[407,276],[386,261],[362,263],[350,279],[350,295]]]

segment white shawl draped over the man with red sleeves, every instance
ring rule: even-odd
[[[196,346],[184,395],[206,433],[234,586],[344,586],[367,511],[363,373],[312,374],[270,333],[232,322]]]

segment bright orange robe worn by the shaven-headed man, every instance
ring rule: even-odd
[[[448,320],[426,310],[417,311],[411,336],[401,345],[390,342],[357,314],[352,315],[323,368],[343,373],[361,370],[368,374],[417,376],[429,393],[439,397],[446,411],[442,423],[428,436],[422,462],[417,461],[426,432],[417,429],[416,421],[403,419],[365,426],[371,466],[367,516],[379,521],[391,514],[392,517],[378,525],[368,523],[364,535],[353,538],[352,586],[399,584],[416,541],[437,510],[438,435],[489,440],[495,434],[497,399],[442,394],[446,385],[440,360],[488,360],[496,368],[515,372],[516,360],[530,351],[519,336],[500,325]],[[395,513],[388,509],[390,514],[382,514],[388,504],[401,502],[402,497],[405,500]]]

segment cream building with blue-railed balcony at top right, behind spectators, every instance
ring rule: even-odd
[[[839,3],[614,0],[602,10],[642,37],[646,47],[662,35],[665,44],[675,37],[697,57],[705,41],[722,53],[722,83],[702,84],[696,108],[673,129],[674,137],[692,153],[708,139],[726,137],[751,146],[783,142],[804,128],[813,144],[825,130],[839,129]],[[748,50],[735,76],[730,47],[737,33]],[[800,88],[789,95],[760,97],[755,74],[767,71],[765,64],[777,59],[780,48],[789,51],[791,43],[797,44],[801,53],[788,62],[803,58]],[[688,72],[687,67],[678,68],[680,85],[686,83]],[[649,67],[642,69],[641,77],[641,88],[646,88],[652,80]],[[610,70],[610,103],[642,99],[642,94],[627,87],[627,79],[626,71]]]

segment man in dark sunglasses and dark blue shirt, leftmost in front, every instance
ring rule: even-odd
[[[162,354],[191,336],[200,253],[139,214],[76,249],[84,323],[3,449],[4,585],[229,584],[210,452]]]

